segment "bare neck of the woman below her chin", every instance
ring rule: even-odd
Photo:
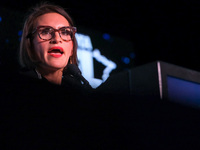
[[[57,70],[47,70],[41,67],[36,68],[37,72],[39,72],[44,78],[46,78],[49,82],[61,85],[63,69]]]

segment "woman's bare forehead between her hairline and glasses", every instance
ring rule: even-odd
[[[47,13],[37,18],[36,26],[51,26],[53,28],[60,28],[69,26],[67,19],[58,13]]]

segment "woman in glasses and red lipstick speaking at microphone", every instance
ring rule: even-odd
[[[73,25],[70,16],[59,6],[45,3],[35,7],[25,21],[21,39],[19,59],[26,68],[23,73],[57,85],[90,88],[77,68],[75,73],[74,69],[72,72],[68,69],[69,64],[77,67]]]

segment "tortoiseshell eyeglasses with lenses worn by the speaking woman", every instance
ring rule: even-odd
[[[32,34],[37,32],[40,39],[48,41],[55,37],[55,32],[58,32],[63,41],[71,41],[73,40],[76,31],[76,27],[70,26],[62,27],[60,29],[54,29],[51,26],[38,26],[31,34],[27,36],[27,38],[30,38]]]

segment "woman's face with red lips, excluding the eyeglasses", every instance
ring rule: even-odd
[[[38,17],[36,27],[38,26],[51,26],[54,29],[60,29],[69,26],[69,22],[58,13],[47,13]],[[55,36],[48,41],[40,39],[38,34],[35,33],[33,47],[37,59],[39,59],[37,67],[47,70],[63,69],[73,53],[72,40],[63,41],[58,32],[55,32]]]

